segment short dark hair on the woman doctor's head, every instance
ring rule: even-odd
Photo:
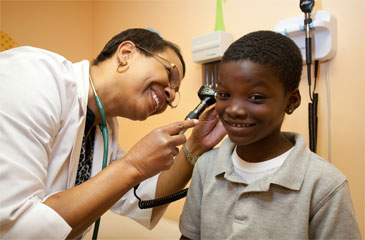
[[[185,62],[181,55],[179,47],[172,42],[164,40],[157,33],[143,28],[131,28],[115,35],[105,45],[104,49],[99,53],[99,55],[96,57],[92,64],[98,65],[100,62],[112,57],[117,51],[118,46],[124,41],[131,41],[139,47],[156,53],[164,51],[166,48],[172,49],[180,59],[183,67],[183,76],[185,76]],[[140,49],[138,50],[146,56],[151,55],[146,51],[141,51]]]

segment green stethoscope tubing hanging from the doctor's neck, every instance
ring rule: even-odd
[[[101,104],[98,94],[96,93],[94,83],[91,79],[91,76],[89,76],[89,80],[90,80],[91,88],[95,95],[96,105],[98,106],[98,109],[100,112],[100,117],[101,117],[101,123],[99,124],[99,128],[103,135],[103,142],[104,142],[103,165],[102,165],[102,169],[104,169],[108,162],[108,127],[106,126],[106,117],[105,117],[104,108],[103,108],[103,105]],[[100,217],[95,222],[92,239],[98,238],[99,225],[100,225]]]

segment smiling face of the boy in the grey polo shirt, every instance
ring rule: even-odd
[[[267,143],[279,144],[290,101],[290,94],[266,66],[248,60],[222,64],[216,110],[238,148],[263,151],[270,148]]]

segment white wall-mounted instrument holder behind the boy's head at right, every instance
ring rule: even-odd
[[[327,61],[336,55],[337,50],[337,20],[327,11],[318,11],[312,14],[310,24],[312,32],[312,56],[313,60]],[[275,32],[290,37],[300,48],[303,61],[305,52],[305,26],[304,16],[297,16],[279,21]]]

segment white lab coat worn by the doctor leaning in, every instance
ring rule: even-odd
[[[70,233],[67,222],[42,202],[74,187],[88,89],[86,60],[73,64],[32,47],[0,53],[0,238],[64,239]],[[108,130],[110,163],[124,153],[116,119],[108,121]],[[97,128],[92,176],[101,170],[102,143]],[[156,184],[157,176],[143,182],[139,195],[154,198]],[[132,191],[112,210],[150,227],[152,210],[139,210]]]

